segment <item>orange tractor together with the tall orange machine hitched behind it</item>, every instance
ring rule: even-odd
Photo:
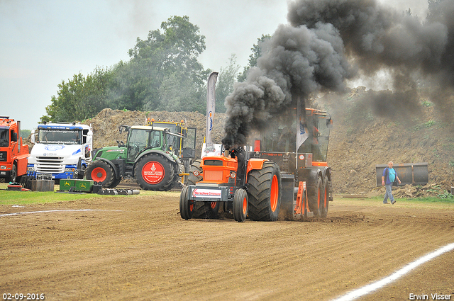
[[[182,218],[215,218],[220,209],[238,222],[325,218],[333,200],[326,163],[333,120],[321,110],[304,111],[298,125],[262,132],[252,146],[194,161],[179,198]]]

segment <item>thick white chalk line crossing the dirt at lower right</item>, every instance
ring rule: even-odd
[[[353,290],[352,292],[350,292],[346,295],[343,295],[343,296],[339,297],[338,299],[334,299],[333,301],[355,300],[358,297],[362,297],[363,295],[372,293],[374,290],[382,288],[385,285],[392,283],[394,280],[401,278],[402,276],[404,276],[406,273],[409,273],[411,270],[413,270],[417,266],[421,266],[421,264],[426,263],[427,261],[430,261],[430,260],[436,258],[437,256],[440,256],[441,254],[444,254],[453,249],[454,249],[454,243],[443,246],[440,249],[433,251],[432,253],[429,253],[426,256],[423,256],[420,259],[417,259],[416,261],[413,261],[413,262],[407,264],[406,266],[404,266],[404,268],[401,268],[399,271],[393,273],[392,275],[390,275],[386,278],[383,278],[382,280],[379,280],[375,283],[371,283],[369,285],[363,286],[362,288],[358,288],[358,290]]]

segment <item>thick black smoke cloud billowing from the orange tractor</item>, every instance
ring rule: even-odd
[[[454,87],[454,0],[428,0],[424,20],[375,0],[299,0],[289,25],[262,45],[258,67],[226,98],[223,144],[245,144],[248,133],[321,89],[342,91],[345,80],[391,74],[394,93],[375,93],[377,115],[414,106],[421,82]],[[416,98],[416,97],[415,97]],[[443,98],[437,98],[443,102]]]

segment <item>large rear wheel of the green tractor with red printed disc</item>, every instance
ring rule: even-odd
[[[172,162],[157,154],[147,154],[135,165],[135,180],[145,191],[170,190],[174,175]]]

